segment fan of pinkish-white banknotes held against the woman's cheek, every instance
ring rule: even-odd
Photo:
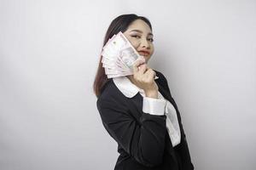
[[[108,78],[132,75],[132,65],[137,59],[144,58],[121,31],[113,35],[102,49],[102,66]]]

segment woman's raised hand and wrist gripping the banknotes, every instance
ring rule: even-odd
[[[154,82],[155,71],[148,67],[144,60],[138,59],[133,65],[131,82],[142,88],[146,97],[158,99],[158,86]]]

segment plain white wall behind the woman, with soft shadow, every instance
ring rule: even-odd
[[[198,170],[256,167],[256,1],[0,1],[0,169],[113,169],[92,84],[110,22],[148,17]]]

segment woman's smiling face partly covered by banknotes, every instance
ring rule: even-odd
[[[154,53],[153,34],[148,24],[143,20],[134,20],[124,35],[148,63],[148,59]]]

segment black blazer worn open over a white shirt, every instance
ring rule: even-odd
[[[150,115],[143,112],[143,96],[137,93],[125,97],[113,83],[113,79],[102,88],[97,99],[97,109],[103,126],[118,143],[119,158],[115,170],[191,170],[189,148],[183,131],[177,105],[172,99],[166,77],[155,71],[155,80],[160,94],[168,99],[177,111],[181,130],[181,143],[172,147],[166,130],[166,115]]]

